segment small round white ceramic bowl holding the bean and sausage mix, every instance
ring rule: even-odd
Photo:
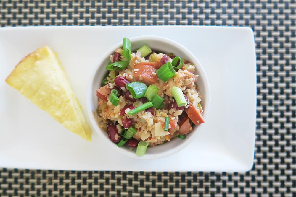
[[[88,115],[91,121],[92,126],[94,127],[95,131],[99,134],[100,138],[104,143],[106,143],[106,146],[113,147],[116,151],[126,154],[131,157],[135,157],[138,159],[158,159],[167,157],[169,155],[172,155],[176,152],[179,152],[180,150],[184,149],[188,144],[190,144],[194,138],[196,137],[196,134],[198,132],[202,131],[202,127],[204,124],[207,124],[206,118],[208,115],[209,107],[210,107],[210,86],[207,79],[207,76],[205,74],[204,69],[202,68],[200,62],[197,60],[197,58],[184,46],[181,44],[170,40],[168,38],[158,37],[158,36],[139,36],[135,38],[130,38],[131,41],[131,51],[136,51],[138,48],[140,48],[143,45],[148,45],[150,48],[152,48],[152,51],[159,51],[162,53],[174,53],[176,56],[180,56],[181,58],[185,58],[192,62],[195,65],[195,73],[198,74],[199,77],[197,79],[197,84],[199,86],[199,92],[200,95],[202,95],[202,102],[201,105],[204,109],[204,118],[205,123],[201,125],[197,125],[193,127],[193,132],[189,133],[186,136],[186,139],[172,139],[169,142],[165,142],[164,144],[159,144],[155,147],[148,147],[146,154],[142,157],[139,157],[136,155],[136,150],[130,150],[128,146],[123,146],[119,148],[116,146],[115,143],[113,143],[108,138],[108,133],[103,131],[98,126],[97,122],[97,114],[96,114],[96,108],[97,108],[97,102],[98,98],[96,97],[96,90],[101,86],[101,83],[104,79],[104,77],[107,74],[107,70],[105,67],[110,61],[110,55],[114,54],[115,49],[122,47],[123,42],[120,42],[116,45],[114,45],[112,48],[110,48],[107,53],[105,53],[100,61],[99,64],[94,68],[93,73],[91,74],[91,77],[89,79],[89,89],[87,92],[87,110]],[[198,46],[197,46],[198,47]],[[205,132],[205,131],[204,131]],[[108,145],[107,145],[108,144]]]

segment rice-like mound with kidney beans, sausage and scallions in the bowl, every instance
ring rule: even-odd
[[[169,50],[169,49],[168,49]],[[145,154],[204,123],[195,66],[172,53],[155,53],[147,46],[131,53],[131,43],[110,55],[109,71],[96,91],[99,127],[118,147],[137,147]]]

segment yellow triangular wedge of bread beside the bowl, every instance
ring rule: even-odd
[[[91,130],[85,122],[65,70],[48,46],[23,58],[6,82],[65,128],[91,141]]]

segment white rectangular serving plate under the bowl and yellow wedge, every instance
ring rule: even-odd
[[[58,53],[86,115],[86,89],[100,55],[123,37],[157,35],[187,47],[204,67],[211,107],[204,129],[170,157],[138,160],[86,142],[5,83],[14,66],[44,45]],[[116,171],[247,171],[253,164],[256,61],[245,27],[12,27],[0,29],[0,167]],[[90,123],[89,123],[90,125]]]

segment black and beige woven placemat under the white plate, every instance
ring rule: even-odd
[[[296,197],[295,0],[0,0],[0,26],[250,26],[257,54],[255,162],[245,173],[0,168],[0,196]]]

